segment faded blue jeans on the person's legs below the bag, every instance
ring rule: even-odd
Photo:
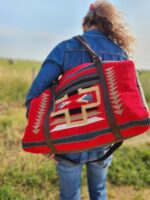
[[[58,159],[60,200],[80,200],[82,166],[86,164],[87,183],[90,200],[106,200],[106,176],[112,156],[103,162],[86,163],[95,160],[106,152],[106,148],[96,148],[82,153],[64,154],[79,164]]]

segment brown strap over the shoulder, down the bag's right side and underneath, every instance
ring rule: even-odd
[[[102,85],[102,92],[103,92],[103,98],[104,98],[104,107],[106,110],[106,115],[107,115],[107,119],[109,122],[109,126],[112,129],[112,133],[116,139],[116,143],[113,144],[110,149],[99,159],[94,160],[94,161],[88,161],[89,162],[97,162],[97,161],[103,161],[106,158],[108,158],[112,153],[114,153],[123,143],[123,136],[120,132],[120,127],[117,124],[117,121],[115,119],[114,113],[113,113],[113,109],[111,106],[111,102],[109,99],[109,94],[108,94],[108,87],[107,87],[107,80],[105,78],[105,74],[104,74],[104,69],[103,69],[103,64],[102,61],[100,59],[100,57],[90,48],[90,46],[87,44],[87,42],[85,41],[85,39],[82,36],[76,36],[75,39],[77,39],[83,46],[84,48],[88,51],[88,53],[90,54],[93,62],[95,63],[95,67],[97,69],[98,75],[99,75],[99,79]],[[56,157],[61,157],[64,158],[63,155],[56,155]],[[79,164],[73,160],[70,159],[66,159],[74,164]]]

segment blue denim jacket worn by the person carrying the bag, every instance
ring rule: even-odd
[[[102,61],[125,60],[127,54],[109,39],[103,32],[99,30],[88,30],[83,34],[84,39],[90,47],[101,57]],[[43,62],[41,69],[32,83],[32,86],[26,97],[26,106],[29,108],[30,100],[39,96],[46,88],[50,87],[52,82],[58,78],[60,74],[67,70],[86,62],[92,62],[87,50],[74,37],[58,44],[47,56]],[[95,153],[99,148],[95,149]],[[69,158],[79,158],[83,156],[89,157],[91,151],[84,153],[69,154]],[[96,157],[95,157],[96,158]]]

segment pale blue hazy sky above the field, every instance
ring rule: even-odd
[[[43,61],[62,40],[82,34],[92,0],[1,0],[0,57]],[[150,1],[110,0],[137,39],[137,68],[150,69]]]

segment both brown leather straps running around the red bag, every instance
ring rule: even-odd
[[[106,158],[108,158],[112,153],[114,153],[122,145],[123,137],[121,135],[120,127],[117,124],[117,121],[116,121],[114,113],[113,113],[113,108],[111,106],[111,101],[110,101],[110,98],[109,98],[108,87],[107,87],[107,80],[105,78],[105,73],[104,73],[104,69],[103,69],[103,65],[102,65],[101,59],[89,47],[89,45],[87,44],[87,42],[85,41],[85,39],[82,36],[77,36],[75,38],[84,46],[85,49],[87,49],[87,51],[91,55],[91,58],[92,58],[93,62],[95,63],[95,66],[96,66],[96,69],[97,69],[97,72],[98,72],[98,76],[99,76],[99,81],[100,81],[100,84],[102,86],[104,107],[105,107],[108,123],[109,123],[109,126],[110,126],[110,128],[112,130],[112,133],[113,133],[116,141],[118,140],[118,142],[116,142],[114,145],[112,145],[111,148],[101,158],[99,158],[97,160],[94,160],[94,161],[88,161],[88,163],[89,162],[103,161]],[[53,94],[54,94],[54,91],[55,91],[55,87],[54,87],[54,90],[52,91]],[[50,103],[51,106],[50,106],[49,112],[47,113],[48,116],[45,119],[45,138],[46,138],[46,141],[48,143],[48,146],[52,149],[53,153],[56,153],[57,151],[56,151],[56,149],[55,149],[55,147],[52,144],[52,141],[50,139],[49,123],[47,121],[47,120],[49,120],[49,114],[52,111],[51,107],[53,107],[54,98],[52,98],[51,101],[53,101],[53,102]],[[62,154],[55,155],[55,157],[56,157],[56,159],[60,157],[60,158],[63,158],[65,160],[69,161],[69,162],[72,162],[74,164],[79,164],[76,161],[73,161],[71,159],[65,158]]]

